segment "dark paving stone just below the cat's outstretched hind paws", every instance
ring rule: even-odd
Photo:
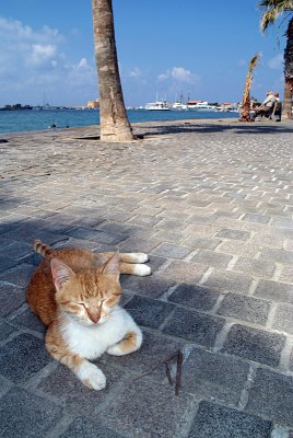
[[[121,276],[120,281],[124,289],[129,289],[134,293],[139,292],[150,298],[160,297],[175,285],[175,281],[157,274],[148,277]]]

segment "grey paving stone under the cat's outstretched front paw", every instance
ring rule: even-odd
[[[46,377],[37,387],[44,394],[49,394],[62,402],[67,413],[70,415],[92,415],[97,405],[108,399],[108,394],[115,390],[125,376],[125,372],[115,369],[113,366],[97,362],[106,376],[107,385],[103,391],[90,390],[78,377],[66,366],[59,365],[58,368]]]

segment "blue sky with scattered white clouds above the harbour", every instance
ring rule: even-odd
[[[0,8],[0,106],[86,105],[96,99],[91,0],[10,0]],[[251,94],[283,89],[284,30],[259,31],[257,0],[114,0],[126,105],[156,95],[237,102],[250,58]],[[279,23],[278,23],[279,24]]]

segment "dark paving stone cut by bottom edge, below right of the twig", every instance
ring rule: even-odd
[[[271,422],[201,402],[188,438],[269,438]]]

